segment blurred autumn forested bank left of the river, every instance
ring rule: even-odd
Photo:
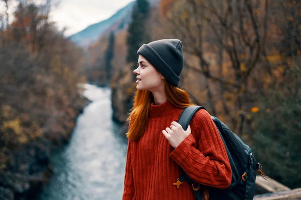
[[[51,149],[69,140],[86,103],[82,52],[49,20],[51,8],[20,1],[11,23],[1,13],[1,199],[34,199],[51,173]]]

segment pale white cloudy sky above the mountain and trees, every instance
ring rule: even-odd
[[[34,0],[39,1],[39,0]],[[43,0],[40,0],[43,1]],[[50,19],[55,21],[59,30],[66,27],[65,35],[76,33],[88,25],[100,22],[112,16],[117,10],[133,0],[54,0],[59,1],[50,13]],[[10,21],[17,6],[16,0],[10,1]],[[0,11],[4,13],[5,4],[0,1]]]

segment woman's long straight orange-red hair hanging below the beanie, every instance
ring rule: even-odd
[[[164,79],[164,83],[167,100],[174,106],[184,108],[194,105],[185,90],[168,83],[166,79]],[[154,96],[148,90],[136,90],[133,101],[133,107],[130,109],[127,118],[129,127],[126,136],[129,139],[136,140],[142,136],[145,130],[150,112],[150,103],[154,102]]]

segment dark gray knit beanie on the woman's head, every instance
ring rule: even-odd
[[[184,58],[182,41],[179,39],[161,39],[143,44],[137,51],[152,63],[166,80],[178,86]]]

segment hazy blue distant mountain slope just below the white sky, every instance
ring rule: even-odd
[[[77,45],[85,47],[96,41],[101,34],[108,29],[122,29],[130,21],[131,10],[134,3],[135,0],[127,4],[125,7],[119,9],[110,18],[91,24],[85,29],[70,35],[68,38]]]

